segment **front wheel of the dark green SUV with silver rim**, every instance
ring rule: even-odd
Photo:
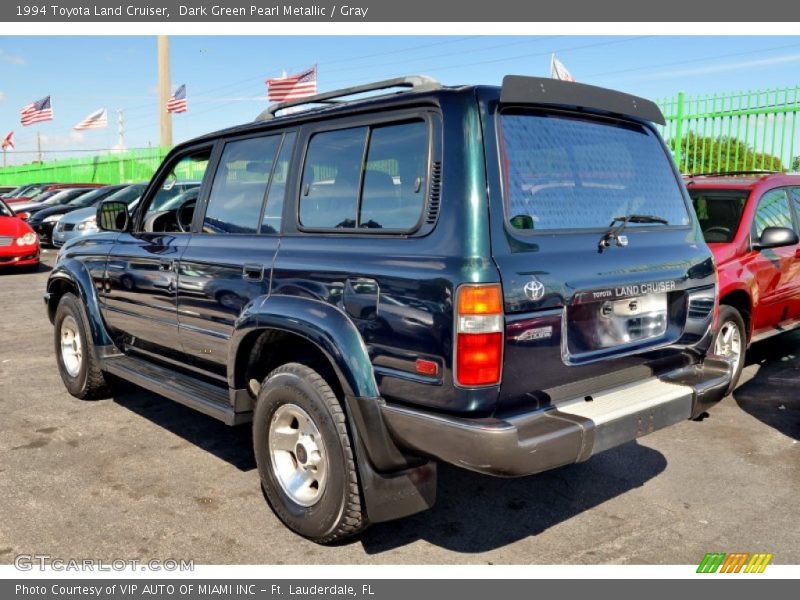
[[[111,394],[110,376],[100,370],[80,300],[74,294],[64,294],[58,302],[54,342],[58,372],[70,394],[83,400]]]

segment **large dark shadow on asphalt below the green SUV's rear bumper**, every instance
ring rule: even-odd
[[[417,540],[455,552],[485,552],[538,535],[640,487],[666,465],[663,454],[636,442],[586,463],[520,479],[440,465],[438,498],[431,510],[373,525],[358,541],[367,554]]]

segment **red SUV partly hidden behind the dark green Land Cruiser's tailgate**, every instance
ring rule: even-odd
[[[717,266],[715,352],[734,377],[751,343],[800,324],[800,175],[727,173],[686,177]]]

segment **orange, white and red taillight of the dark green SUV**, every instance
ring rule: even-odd
[[[503,293],[500,284],[469,284],[456,302],[456,381],[497,385],[503,364]]]

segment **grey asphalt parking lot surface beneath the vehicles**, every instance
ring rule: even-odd
[[[0,563],[697,564],[710,551],[800,563],[800,333],[756,345],[702,422],[523,479],[442,465],[432,510],[323,547],[270,511],[249,426],[127,383],[109,400],[66,392],[41,299],[54,259],[0,273]]]

